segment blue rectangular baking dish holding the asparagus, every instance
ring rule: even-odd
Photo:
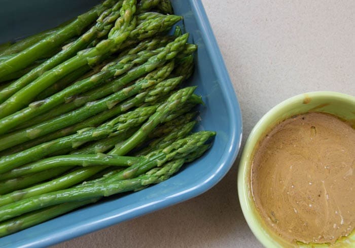
[[[0,43],[53,27],[83,13],[95,0],[3,0]],[[197,129],[215,130],[212,148],[169,180],[145,190],[111,197],[69,214],[0,238],[0,247],[43,247],[156,211],[197,195],[217,184],[232,166],[241,141],[242,122],[226,66],[200,1],[172,1],[184,16],[190,42],[198,45],[196,69],[189,80],[197,85],[205,106]],[[236,192],[237,193],[237,192]]]

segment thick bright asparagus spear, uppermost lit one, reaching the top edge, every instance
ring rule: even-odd
[[[103,11],[110,8],[113,3],[113,0],[107,0],[101,5],[95,6],[87,13],[78,16],[73,22],[46,37],[41,42],[28,47],[6,62],[0,63],[0,78],[16,72],[16,70],[25,68],[27,65],[37,60],[41,55],[60,46],[66,40],[80,35],[88,25],[90,25]]]

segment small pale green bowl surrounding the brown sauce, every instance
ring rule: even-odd
[[[350,95],[331,91],[310,92],[289,98],[276,105],[260,119],[246,140],[238,171],[238,195],[241,209],[252,232],[265,247],[354,247],[354,231],[333,245],[291,243],[269,230],[255,206],[251,191],[251,168],[259,141],[279,122],[307,112],[333,114],[353,123],[353,128],[355,128],[355,97]]]

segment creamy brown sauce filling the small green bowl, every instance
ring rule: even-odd
[[[256,206],[289,241],[334,243],[355,226],[355,130],[338,118],[307,113],[274,127],[252,164]]]

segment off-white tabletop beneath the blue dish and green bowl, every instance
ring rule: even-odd
[[[202,3],[241,106],[243,144],[257,121],[291,96],[319,90],[355,95],[353,0]],[[238,160],[194,199],[53,248],[262,247],[237,199]]]

